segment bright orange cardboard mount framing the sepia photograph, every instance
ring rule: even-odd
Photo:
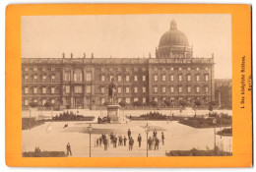
[[[67,15],[230,14],[232,39],[232,156],[22,157],[21,17]],[[241,63],[245,61],[244,108]],[[252,166],[251,6],[218,4],[27,4],[6,9],[6,164],[24,167]]]

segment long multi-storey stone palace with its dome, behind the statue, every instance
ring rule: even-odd
[[[170,100],[193,106],[215,99],[214,55],[193,57],[186,35],[171,21],[160,37],[156,58],[22,58],[23,108],[30,102],[51,102],[56,108],[96,109],[107,101],[111,78],[117,83],[118,101],[128,106],[140,101],[159,106]]]

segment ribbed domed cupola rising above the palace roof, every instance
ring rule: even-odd
[[[192,49],[189,47],[186,34],[177,29],[176,22],[170,22],[170,28],[160,37],[157,58],[191,58]]]

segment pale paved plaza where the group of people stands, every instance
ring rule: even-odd
[[[188,150],[191,148],[213,149],[214,148],[214,129],[194,129],[177,121],[123,121],[120,124],[96,124],[91,122],[94,128],[92,133],[92,157],[132,157],[147,155],[147,140],[145,126],[150,127],[149,137],[153,137],[153,130],[157,129],[158,138],[160,133],[164,134],[164,144],[160,143],[159,150],[149,150],[149,156],[165,156],[165,151],[169,150]],[[65,124],[69,127],[63,128]],[[81,133],[89,127],[90,122],[46,122],[45,124],[23,131],[23,151],[33,151],[35,146],[41,150],[65,151],[66,144],[71,144],[74,157],[88,157],[90,150],[89,134]],[[118,136],[127,136],[128,129],[132,132],[134,139],[133,150],[126,146],[118,145],[113,148],[109,145],[107,150],[102,146],[96,146],[96,139],[102,133],[109,135],[111,132]],[[217,128],[216,132],[220,129]],[[137,142],[138,135],[142,136],[142,146]],[[216,136],[217,144],[225,151],[232,150],[232,137]]]

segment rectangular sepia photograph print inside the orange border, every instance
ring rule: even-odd
[[[231,15],[22,16],[22,156],[232,156]]]

